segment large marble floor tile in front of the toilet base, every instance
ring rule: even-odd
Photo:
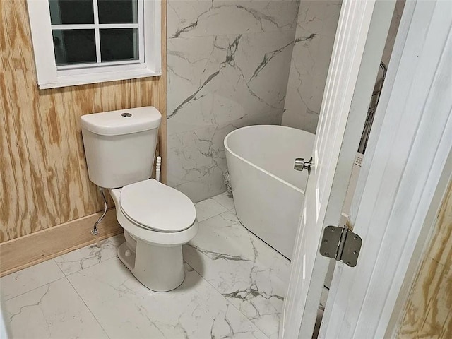
[[[109,338],[266,338],[190,266],[176,290],[153,292],[112,258],[68,279]]]

